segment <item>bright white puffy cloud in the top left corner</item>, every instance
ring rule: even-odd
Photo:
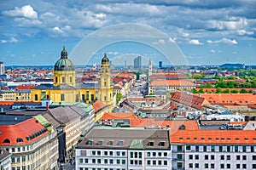
[[[3,14],[15,17],[25,17],[27,19],[38,19],[38,13],[32,8],[31,5],[25,5],[21,8],[15,7],[13,10],[5,10]]]

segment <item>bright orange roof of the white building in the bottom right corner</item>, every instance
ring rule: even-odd
[[[170,140],[175,144],[256,144],[256,131],[178,130]]]

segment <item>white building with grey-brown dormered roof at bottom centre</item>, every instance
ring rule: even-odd
[[[169,139],[166,129],[94,127],[76,147],[76,169],[172,169]]]

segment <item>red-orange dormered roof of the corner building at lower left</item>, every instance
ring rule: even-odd
[[[17,123],[15,125],[9,126],[0,126],[0,145],[15,145],[15,144],[30,144],[38,139],[41,139],[49,132],[46,131],[44,133],[35,136],[35,138],[27,140],[26,137],[32,135],[33,133],[38,133],[40,130],[43,130],[44,126],[41,125],[36,118],[32,117],[27,119],[24,122]],[[17,142],[17,139],[23,139],[23,142]],[[9,139],[10,143],[3,143],[5,139]]]

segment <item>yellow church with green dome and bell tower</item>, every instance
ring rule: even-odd
[[[113,108],[113,85],[111,83],[110,65],[107,54],[102,58],[100,77],[96,83],[76,82],[75,67],[67,58],[63,47],[61,59],[54,66],[53,84],[41,84],[31,89],[33,102],[52,99],[53,102],[85,102],[87,104],[101,100]]]

